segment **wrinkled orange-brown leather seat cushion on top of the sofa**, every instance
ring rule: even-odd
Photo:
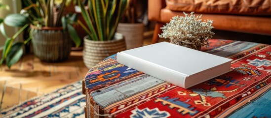
[[[196,13],[271,15],[271,0],[166,0],[167,9]]]

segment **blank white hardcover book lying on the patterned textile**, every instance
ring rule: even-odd
[[[231,71],[232,61],[168,42],[119,52],[116,60],[185,89]]]

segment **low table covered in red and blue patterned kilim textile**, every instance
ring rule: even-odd
[[[232,71],[189,89],[121,65],[116,55],[104,59],[84,79],[85,116],[271,117],[270,45],[212,39],[201,50],[233,59]]]

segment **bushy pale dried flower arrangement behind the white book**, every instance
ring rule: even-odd
[[[200,50],[201,46],[209,46],[208,39],[213,37],[211,30],[212,20],[202,22],[201,15],[195,16],[194,12],[190,15],[185,13],[185,17],[175,16],[169,23],[163,26],[160,38],[169,38],[171,43]]]

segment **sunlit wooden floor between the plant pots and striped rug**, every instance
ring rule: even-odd
[[[5,86],[1,109],[82,80],[87,71],[82,51],[71,52],[68,60],[59,63],[45,63],[25,55],[11,69],[3,67],[0,71],[0,93]]]

